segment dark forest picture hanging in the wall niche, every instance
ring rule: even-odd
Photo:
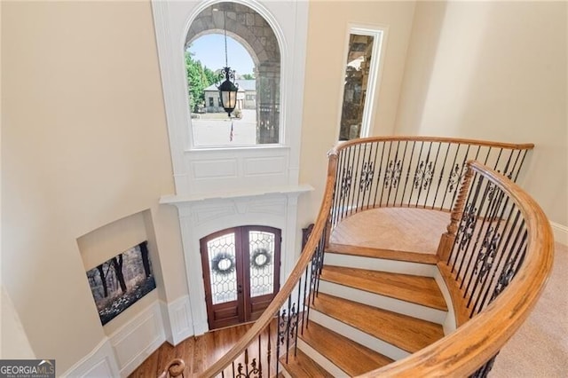
[[[104,326],[156,288],[147,240],[97,265],[87,280]]]

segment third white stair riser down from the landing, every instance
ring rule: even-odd
[[[375,336],[368,335],[355,327],[351,327],[342,321],[331,318],[314,309],[310,309],[310,321],[315,321],[323,327],[327,327],[340,335],[350,338],[356,343],[364,345],[367,348],[375,350],[394,360],[405,358],[410,355],[410,353],[406,350],[401,350],[390,343],[386,343]],[[308,327],[310,326],[308,325]]]

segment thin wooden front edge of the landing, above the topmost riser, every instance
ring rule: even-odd
[[[396,249],[383,249],[383,248],[369,248],[360,246],[351,246],[345,244],[330,244],[326,252],[337,253],[341,255],[351,255],[351,256],[365,256],[373,258],[383,258],[388,260],[406,261],[409,263],[421,263],[421,264],[437,264],[438,256],[418,253],[418,252],[406,252],[399,251]]]

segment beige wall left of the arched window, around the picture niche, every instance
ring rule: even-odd
[[[186,294],[151,5],[2,2],[2,58],[2,280],[62,373],[104,337],[78,237],[145,211]]]

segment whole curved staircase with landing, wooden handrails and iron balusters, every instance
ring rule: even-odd
[[[485,377],[552,266],[548,220],[510,181],[532,148],[429,137],[336,146],[288,280],[201,376]]]

